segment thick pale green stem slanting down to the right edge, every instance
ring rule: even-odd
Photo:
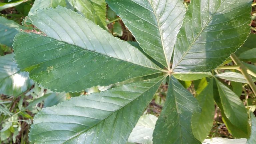
[[[234,61],[234,63],[236,65],[240,66],[240,71],[241,73],[244,75],[244,77],[246,78],[246,80],[248,81],[254,95],[256,95],[256,85],[253,82],[251,76],[247,73],[247,68],[242,64],[242,62],[239,60],[239,58],[235,55],[235,54],[231,54],[231,59]]]

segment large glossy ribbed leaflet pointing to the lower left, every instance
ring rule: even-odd
[[[29,140],[47,144],[124,144],[166,76],[74,97],[42,109]]]

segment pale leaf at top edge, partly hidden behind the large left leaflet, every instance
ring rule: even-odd
[[[29,11],[29,15],[36,15],[36,10],[48,8],[48,7],[57,7],[57,6],[66,6],[66,0],[35,0],[32,8]]]

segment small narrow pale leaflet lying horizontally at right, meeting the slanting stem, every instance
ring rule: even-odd
[[[221,74],[217,74],[215,76],[219,77],[219,78],[222,78],[222,79],[234,81],[234,82],[248,83],[248,81],[246,80],[244,75],[242,75],[240,73],[237,73],[237,72],[224,72],[224,73],[221,73]],[[253,81],[256,81],[256,80],[253,79]]]

